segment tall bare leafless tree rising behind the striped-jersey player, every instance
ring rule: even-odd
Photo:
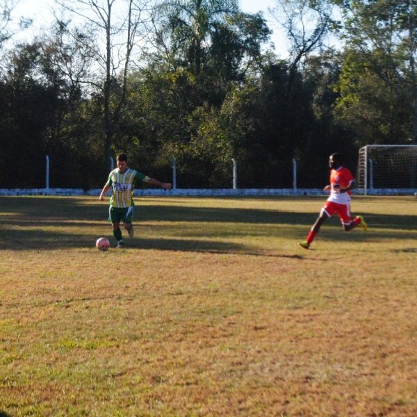
[[[147,31],[146,24],[151,19],[152,11],[150,1],[56,0],[56,3],[88,23],[85,26],[87,39],[97,37],[94,44],[87,44],[98,71],[98,76],[89,82],[101,93],[104,154],[110,166],[114,135],[126,106],[127,77],[133,49],[138,46],[139,35],[143,36]],[[72,33],[78,35],[76,28],[72,29]]]

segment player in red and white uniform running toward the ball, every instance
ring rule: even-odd
[[[338,214],[345,231],[350,231],[357,226],[365,231],[368,227],[361,215],[357,215],[353,220],[350,218],[350,195],[352,188],[354,188],[354,177],[350,170],[342,166],[341,161],[341,154],[332,154],[329,157],[330,185],[325,186],[324,190],[330,191],[330,196],[311,227],[306,240],[300,242],[300,246],[304,249],[309,249],[311,242],[320,231],[321,225],[334,213]]]

